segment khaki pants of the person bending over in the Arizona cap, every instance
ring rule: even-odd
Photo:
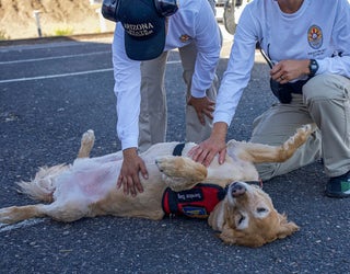
[[[210,136],[212,121],[206,116],[206,125],[202,126],[195,109],[187,105],[197,56],[196,44],[192,42],[178,50],[184,69],[183,78],[187,87],[186,102],[184,102],[186,104],[186,141],[200,142]],[[141,62],[140,151],[147,150],[153,144],[165,141],[167,126],[166,91],[164,88],[166,59],[167,52],[164,52],[153,60]],[[218,82],[215,77],[211,88],[207,90],[207,96],[212,101],[217,99]]]

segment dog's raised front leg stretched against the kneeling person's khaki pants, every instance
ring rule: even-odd
[[[229,155],[234,153],[240,159],[254,163],[283,162],[292,157],[295,150],[306,141],[307,137],[314,130],[314,124],[305,125],[299,128],[296,133],[281,146],[231,140],[228,144]]]

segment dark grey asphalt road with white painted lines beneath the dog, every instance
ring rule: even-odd
[[[22,43],[23,44],[23,43]],[[231,37],[218,73],[222,77]],[[15,192],[40,165],[72,162],[82,133],[92,156],[120,149],[115,134],[110,37],[0,44],[0,207],[34,203]],[[230,128],[247,140],[255,116],[275,99],[257,54]],[[184,139],[184,84],[176,52],[166,72],[168,140]],[[276,208],[301,230],[258,249],[225,246],[205,220],[98,217],[0,225],[0,273],[350,273],[350,199],[325,197],[316,162],[264,183]]]

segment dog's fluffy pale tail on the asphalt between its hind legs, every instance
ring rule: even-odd
[[[54,201],[54,192],[56,190],[55,179],[58,174],[68,169],[67,164],[58,164],[54,167],[43,167],[30,182],[19,182],[18,192],[28,195],[33,199],[51,203]]]

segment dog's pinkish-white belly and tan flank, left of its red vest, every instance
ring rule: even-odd
[[[121,161],[75,161],[56,182],[55,206],[70,205],[86,212],[85,216],[101,215],[161,219],[162,195],[166,187],[155,163],[147,162],[149,179],[141,179],[144,191],[136,197],[117,189]],[[82,209],[83,208],[83,209]]]

